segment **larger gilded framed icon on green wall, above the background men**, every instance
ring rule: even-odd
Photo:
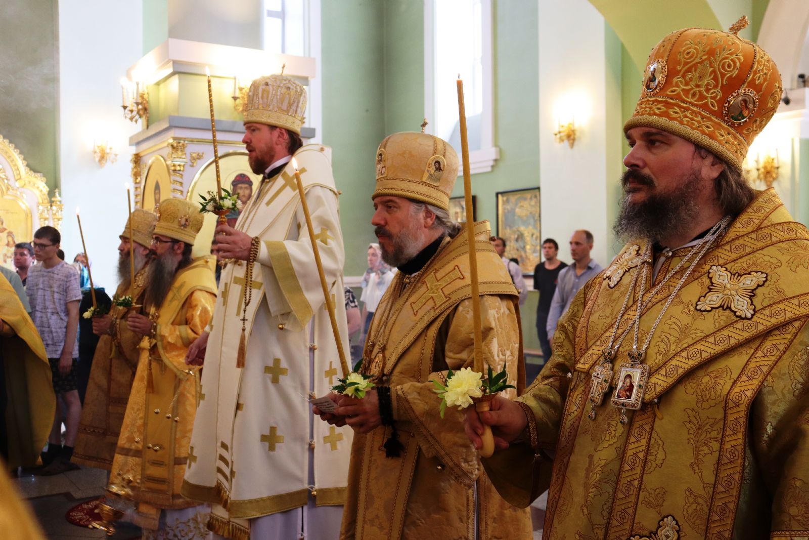
[[[534,275],[542,261],[540,189],[498,191],[497,236],[506,240],[506,257],[517,257],[523,275]]]

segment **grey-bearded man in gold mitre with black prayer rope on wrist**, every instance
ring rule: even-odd
[[[376,385],[365,398],[341,397],[331,423],[354,429],[341,538],[532,538],[530,513],[503,500],[464,435],[460,410],[441,407],[431,381],[472,368],[469,244],[451,220],[458,156],[441,138],[397,133],[375,154],[371,219],[383,260],[398,272],[374,313],[362,373]],[[506,368],[506,390],[525,385],[519,295],[475,227],[483,360]],[[508,524],[507,526],[505,524]]]

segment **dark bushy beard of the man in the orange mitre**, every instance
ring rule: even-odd
[[[629,202],[629,197],[625,197],[612,230],[625,241],[643,239],[656,242],[663,236],[676,235],[700,213],[694,200],[700,181],[701,178],[694,173],[671,193],[653,192],[645,201],[637,203]]]

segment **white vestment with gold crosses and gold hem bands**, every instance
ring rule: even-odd
[[[295,159],[349,358],[331,149],[307,145]],[[236,367],[246,269],[240,261],[222,270],[182,490],[227,508],[214,507],[210,525],[228,538],[244,537],[249,518],[306,506],[312,491],[318,505],[343,504],[352,441],[349,427],[312,422],[307,402],[342,374],[292,164],[262,182],[236,228],[261,240],[245,365]]]

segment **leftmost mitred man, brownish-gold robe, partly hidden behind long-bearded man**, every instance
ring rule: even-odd
[[[152,232],[155,230],[155,214],[138,208],[126,220],[118,245],[118,288],[115,296],[130,296],[133,304],[143,303],[146,285],[146,267]],[[131,221],[131,237],[129,234]],[[133,243],[135,271],[134,283],[130,277],[129,248]],[[82,420],[78,424],[78,436],[73,461],[80,465],[109,470],[112,457],[121,435],[132,380],[138,368],[142,336],[129,330],[126,315],[129,308],[112,305],[104,317],[93,318],[93,333],[100,336],[95,347],[87,394],[82,406]]]

